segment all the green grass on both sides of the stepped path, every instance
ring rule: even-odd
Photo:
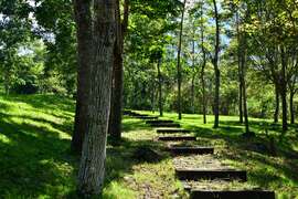
[[[70,153],[74,102],[52,95],[0,96],[0,198],[75,198],[79,158]],[[258,133],[258,139],[252,142],[238,137],[242,126],[236,117],[222,117],[219,132],[212,129],[212,117],[207,125],[201,121],[185,115],[181,124],[196,132],[199,143],[220,146],[223,161],[248,169],[251,184],[274,189],[280,198],[298,195],[298,133],[290,132],[273,157],[266,151],[259,121],[252,122]],[[168,154],[158,163],[132,157],[140,146],[162,151],[163,146],[152,142],[155,136],[141,121],[125,117],[121,146],[107,149],[104,198],[185,198]]]

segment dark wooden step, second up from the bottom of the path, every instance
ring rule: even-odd
[[[245,170],[234,169],[175,169],[175,175],[180,180],[200,180],[200,179],[238,179],[246,181],[247,174]]]

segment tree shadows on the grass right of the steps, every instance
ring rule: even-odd
[[[238,163],[253,163],[248,167],[248,176],[251,181],[263,187],[269,188],[270,185],[284,186],[285,180],[298,184],[298,154],[291,147],[291,139],[278,139],[278,134],[275,136],[275,147],[277,156],[273,156],[270,142],[265,134],[257,134],[255,138],[245,138],[242,136],[243,130],[238,127],[238,123],[222,122],[228,126],[221,126],[219,129],[204,128],[200,126],[188,126],[195,132],[195,135],[203,143],[212,143],[223,140],[227,147],[221,151],[223,159],[231,159]],[[237,125],[237,126],[233,126]],[[262,124],[253,123],[252,126],[256,129],[260,128]],[[231,151],[233,150],[233,151]],[[280,160],[283,158],[284,160]],[[285,178],[285,177],[286,178]],[[294,188],[291,191],[294,191]]]

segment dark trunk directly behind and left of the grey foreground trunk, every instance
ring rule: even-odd
[[[75,1],[75,19],[77,24],[77,93],[75,124],[72,137],[71,148],[74,153],[81,154],[84,133],[87,125],[87,96],[89,87],[89,70],[91,70],[91,39],[92,39],[92,11],[91,0]]]

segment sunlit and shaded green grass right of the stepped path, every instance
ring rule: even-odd
[[[182,121],[178,121],[175,113],[166,113],[164,118],[174,119],[182,127],[192,129],[199,137],[198,143],[215,146],[222,161],[246,169],[249,184],[275,190],[278,198],[298,198],[297,125],[290,125],[287,134],[280,138],[280,124],[273,125],[269,119],[249,118],[251,130],[256,133],[256,138],[246,139],[241,136],[244,126],[235,116],[221,116],[219,129],[213,129],[213,116],[207,116],[207,124],[203,124],[201,115],[185,114]],[[265,129],[274,137],[276,156],[269,151],[270,142]]]

